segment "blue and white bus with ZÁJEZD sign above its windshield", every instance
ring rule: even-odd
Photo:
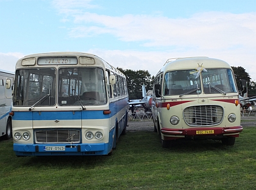
[[[40,53],[16,63],[17,156],[110,155],[126,134],[126,76],[96,55]]]

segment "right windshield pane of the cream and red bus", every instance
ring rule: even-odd
[[[232,70],[207,69],[202,72],[204,93],[233,93],[237,92]]]

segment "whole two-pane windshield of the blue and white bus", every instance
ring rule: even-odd
[[[56,72],[59,72],[56,87]],[[103,69],[68,67],[20,69],[16,71],[13,106],[82,106],[106,104]]]

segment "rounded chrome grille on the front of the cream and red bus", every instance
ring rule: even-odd
[[[185,122],[189,126],[215,126],[221,123],[223,109],[221,106],[191,106],[183,111]]]

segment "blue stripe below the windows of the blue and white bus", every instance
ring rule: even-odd
[[[121,109],[128,105],[128,99],[110,103],[111,114],[103,114],[103,110],[79,110],[79,111],[54,111],[54,112],[15,112],[12,120],[93,120],[113,117]]]

